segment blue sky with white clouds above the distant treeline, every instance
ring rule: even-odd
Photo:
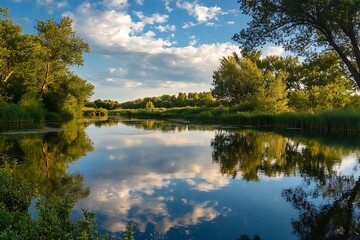
[[[71,70],[95,86],[92,100],[120,102],[211,89],[219,59],[240,52],[231,37],[251,20],[237,0],[2,0],[24,33],[36,19],[73,20],[90,46]],[[283,50],[266,46],[263,55]]]

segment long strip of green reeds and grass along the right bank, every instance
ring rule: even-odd
[[[327,132],[360,132],[360,110],[313,113],[249,113],[226,108],[117,109],[109,115],[143,118],[181,118],[202,123],[276,126]]]

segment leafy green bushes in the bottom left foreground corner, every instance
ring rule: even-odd
[[[0,238],[1,239],[107,239],[95,227],[95,215],[83,210],[84,219],[71,221],[73,202],[58,198],[37,203],[38,217],[28,212],[36,196],[36,186],[19,177],[17,168],[5,164],[0,169]]]

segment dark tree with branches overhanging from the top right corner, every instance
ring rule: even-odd
[[[335,51],[360,88],[360,1],[238,0],[252,17],[248,28],[233,36],[245,52],[267,42],[300,54]]]

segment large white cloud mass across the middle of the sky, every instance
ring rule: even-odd
[[[188,46],[178,46],[173,39],[175,35],[163,38],[153,31],[176,30],[173,25],[163,24],[168,21],[168,15],[133,13],[131,16],[122,10],[99,10],[94,4],[85,2],[74,12],[64,14],[73,19],[76,32],[90,44],[92,52],[107,56],[107,61],[118,69],[104,69],[101,78],[89,79],[98,90],[105,91],[105,86],[125,86],[139,88],[137,94],[143,91],[145,96],[151,96],[151,91],[155,92],[149,90],[151,87],[158,87],[158,92],[161,89],[190,91],[196,87],[204,89],[204,86],[210,89],[212,72],[219,59],[238,51],[238,47],[229,42],[197,44],[195,47],[193,40]],[[132,84],[134,82],[141,84]],[[115,92],[111,88],[106,90]]]

